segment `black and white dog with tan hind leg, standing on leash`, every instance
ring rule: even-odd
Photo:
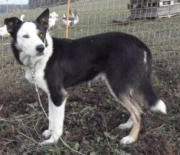
[[[49,10],[35,21],[6,18],[12,49],[17,61],[26,67],[26,78],[44,90],[49,100],[49,128],[42,144],[57,142],[63,133],[66,88],[103,77],[111,94],[130,113],[121,129],[132,128],[121,143],[137,140],[142,110],[147,102],[154,111],[166,113],[151,84],[152,56],[139,39],[125,33],[105,33],[77,40],[52,38],[48,29]],[[31,74],[35,69],[34,76]],[[34,77],[34,78],[33,78]]]

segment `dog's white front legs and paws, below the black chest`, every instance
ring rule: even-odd
[[[61,137],[66,100],[66,96],[58,93],[49,96],[49,129],[44,131],[43,135],[50,138],[43,141],[42,145],[55,143]]]

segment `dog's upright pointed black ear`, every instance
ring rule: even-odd
[[[46,9],[36,21],[47,29],[49,27],[49,9]]]

